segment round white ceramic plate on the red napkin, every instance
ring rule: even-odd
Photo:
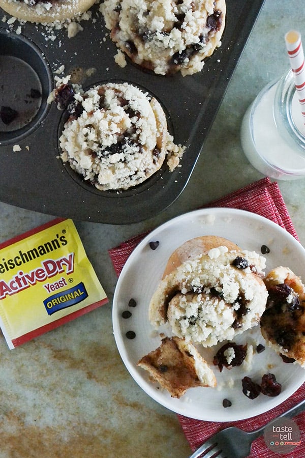
[[[266,273],[274,267],[290,267],[297,275],[305,278],[305,250],[287,231],[268,219],[254,213],[212,208],[197,210],[178,216],[158,227],[145,237],[135,248],[117,281],[113,299],[113,330],[116,345],[131,376],[139,386],[164,407],[191,418],[210,421],[233,421],[249,418],[266,412],[281,404],[305,381],[305,369],[296,364],[284,363],[274,351],[267,349],[254,353],[251,367],[226,368],[220,373],[212,366],[218,381],[218,388],[191,388],[180,399],[157,387],[148,378],[137,362],[161,343],[159,333],[148,321],[148,305],[151,296],[162,277],[170,254],[179,245],[193,237],[216,235],[225,237],[242,249],[261,253],[261,246],[267,245]],[[156,250],[149,247],[150,241],[159,241]],[[135,299],[136,307],[129,307],[129,300]],[[122,317],[125,310],[132,312],[128,319]],[[136,336],[129,339],[128,331]],[[263,344],[259,327],[238,336],[237,343]],[[224,342],[223,342],[224,343]],[[223,345],[223,344],[221,344]],[[218,345],[208,351],[200,348],[201,354],[211,362]],[[198,347],[199,348],[199,347]],[[260,383],[263,374],[275,374],[282,384],[282,392],[276,397],[260,394],[249,399],[242,393],[241,379],[244,376]],[[231,400],[232,406],[224,408],[223,399]]]

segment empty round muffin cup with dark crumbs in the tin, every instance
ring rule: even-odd
[[[0,42],[0,144],[6,144],[29,135],[45,118],[52,73],[32,41],[0,30]]]

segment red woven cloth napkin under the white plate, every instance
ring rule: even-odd
[[[271,183],[268,178],[263,178],[251,185],[245,186],[238,191],[232,192],[231,194],[218,199],[217,201],[211,202],[205,207],[230,207],[257,213],[258,215],[264,216],[271,221],[276,222],[298,240],[278,184],[276,182]],[[146,236],[146,234],[147,233],[135,236],[109,250],[109,255],[117,276],[120,274],[121,269],[123,269],[123,266],[131,252]],[[234,425],[246,431],[254,430],[277,417],[280,413],[288,410],[290,407],[300,402],[300,400],[304,397],[305,384],[303,384],[284,403],[266,412],[264,415],[258,415],[247,420],[234,422],[201,421],[182,415],[177,416],[192,450],[195,450],[211,435],[217,433],[223,428],[226,428],[227,426]],[[294,418],[294,421],[297,423],[301,433],[301,444],[290,453],[285,454],[285,456],[289,456],[291,458],[304,458],[305,441],[302,441],[302,438],[305,437],[305,414],[299,414],[296,418]],[[279,456],[279,454],[273,453],[269,450],[264,443],[263,437],[260,437],[254,441],[251,454],[249,456],[251,458],[271,458],[273,456]]]

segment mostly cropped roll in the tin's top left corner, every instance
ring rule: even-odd
[[[28,22],[49,23],[73,19],[87,11],[95,0],[55,0],[29,5],[23,0],[0,0],[0,8],[18,19]]]

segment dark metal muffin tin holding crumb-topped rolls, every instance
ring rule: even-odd
[[[32,23],[21,25],[21,34],[17,35],[17,22],[13,27],[0,22],[0,62],[9,62],[12,56],[24,61],[38,75],[42,93],[34,118],[23,127],[8,131],[0,121],[0,201],[50,215],[111,224],[138,222],[167,208],[188,183],[263,3],[227,0],[222,46],[206,60],[200,73],[186,77],[155,75],[133,65],[128,58],[126,67],[119,67],[114,62],[116,47],[98,5],[93,7],[95,20],[81,21],[83,31],[73,38],[62,29],[52,32],[54,41],[46,40],[45,26]],[[0,19],[4,15],[1,10]],[[181,167],[170,173],[164,164],[153,177],[126,191],[99,191],[81,180],[58,159],[58,134],[64,114],[54,103],[47,103],[54,72],[61,65],[65,65],[64,75],[75,68],[96,69],[82,81],[83,88],[128,81],[154,95],[167,113],[175,143],[187,146]],[[32,88],[26,87],[22,74],[15,77],[12,82],[10,79],[11,84],[17,84],[27,95]],[[1,85],[4,87],[4,81],[0,80]],[[21,151],[13,152],[14,145],[19,145]]]

